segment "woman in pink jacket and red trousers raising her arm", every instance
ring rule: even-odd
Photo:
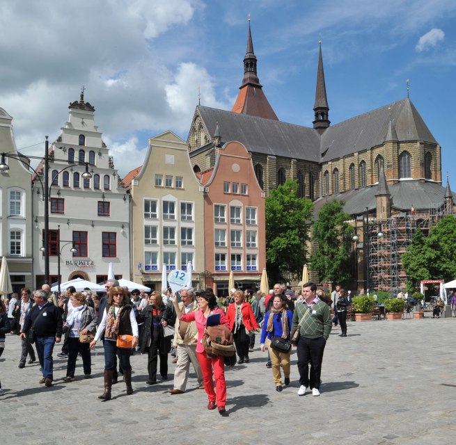
[[[217,402],[219,413],[223,414],[226,412],[225,360],[221,355],[213,358],[207,357],[202,340],[203,335],[205,334],[207,316],[210,316],[210,314],[220,314],[220,324],[226,326],[228,326],[228,318],[226,318],[226,315],[221,309],[217,309],[217,300],[215,296],[210,295],[207,292],[198,294],[199,309],[196,312],[182,314],[176,296],[173,298],[173,305],[181,323],[182,321],[187,323],[191,321],[196,322],[196,328],[198,330],[196,356],[198,357],[201,371],[203,371],[204,389],[209,401],[209,403],[207,403],[207,409],[214,410]],[[214,375],[212,375],[212,369],[214,369]],[[214,391],[213,377],[215,378],[216,391]]]

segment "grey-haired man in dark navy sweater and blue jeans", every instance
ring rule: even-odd
[[[26,338],[26,333],[33,327],[33,337],[36,341],[36,352],[42,369],[42,379],[47,387],[52,386],[52,351],[54,344],[60,343],[62,337],[62,314],[58,307],[47,301],[46,291],[35,291],[33,306],[25,317],[20,337]]]

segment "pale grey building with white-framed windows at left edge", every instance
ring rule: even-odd
[[[0,172],[0,257],[6,257],[13,292],[33,287],[32,194],[29,159],[16,149],[13,118],[0,108],[0,153],[9,169]]]

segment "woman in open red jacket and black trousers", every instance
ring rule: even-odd
[[[258,323],[253,315],[250,303],[244,301],[244,292],[235,291],[235,301],[226,309],[226,316],[233,332],[236,352],[239,356],[237,363],[249,363],[249,332],[258,330]]]

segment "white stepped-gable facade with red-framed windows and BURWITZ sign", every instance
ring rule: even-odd
[[[49,162],[50,282],[57,280],[58,252],[61,282],[76,277],[102,282],[107,278],[109,263],[116,277],[129,280],[129,195],[95,125],[95,108],[84,102],[84,93],[68,108],[68,122],[49,147],[49,156],[54,159]],[[88,163],[91,179],[81,177],[86,167],[79,162]],[[40,175],[42,168],[38,167]],[[41,286],[45,278],[45,259],[40,252],[45,207],[38,180],[33,193],[34,283]],[[74,254],[70,252],[72,242],[78,249]]]

